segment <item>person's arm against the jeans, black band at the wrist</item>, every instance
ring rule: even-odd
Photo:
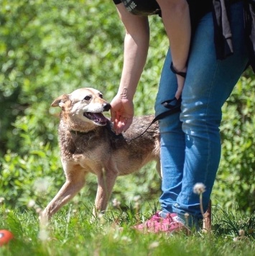
[[[173,67],[177,72],[187,71],[187,58],[190,50],[190,11],[186,0],[157,0],[164,22],[164,28],[170,41]],[[170,71],[171,72],[171,71]],[[177,75],[179,99],[185,78]]]

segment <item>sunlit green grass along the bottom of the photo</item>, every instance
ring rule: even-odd
[[[152,210],[153,211],[153,210]],[[151,212],[135,213],[132,206],[109,209],[91,222],[90,206],[69,204],[47,227],[40,227],[34,209],[21,213],[0,207],[0,229],[14,239],[0,247],[0,255],[252,255],[255,216],[227,212],[213,206],[213,234],[140,234],[131,226]],[[42,225],[41,225],[42,226]],[[120,229],[122,228],[122,230]],[[243,229],[244,237],[239,237]],[[236,240],[236,241],[234,241]]]

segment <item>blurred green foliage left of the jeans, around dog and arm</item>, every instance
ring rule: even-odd
[[[124,27],[115,6],[102,1],[2,4],[0,111],[5,114],[1,117],[0,142],[2,154],[6,153],[1,161],[2,196],[11,206],[22,209],[31,199],[39,205],[43,201],[45,206],[64,181],[57,147],[59,109],[50,108],[50,104],[60,94],[83,86],[100,89],[111,101],[121,75]],[[151,23],[152,39],[164,34],[157,17]],[[152,40],[148,68],[135,99],[137,114],[154,112],[155,77],[161,69],[157,63],[164,60],[158,41],[167,45],[167,39]],[[144,101],[146,92],[150,93]],[[141,180],[133,177],[141,186],[130,186],[135,182],[120,179],[117,197],[129,201],[142,194],[145,201],[152,199],[152,191],[159,191],[159,177],[153,169],[142,170]],[[54,186],[40,198],[34,193],[34,183],[43,178]],[[94,198],[96,178],[89,176],[87,185],[81,194]]]

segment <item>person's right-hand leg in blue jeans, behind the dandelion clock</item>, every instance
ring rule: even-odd
[[[211,14],[203,17],[193,39],[180,114],[185,133],[182,190],[172,206],[182,219],[185,213],[202,217],[195,183],[205,185],[203,211],[208,207],[221,158],[221,107],[248,63],[241,2],[231,6],[231,17],[234,54],[226,60],[215,58]]]

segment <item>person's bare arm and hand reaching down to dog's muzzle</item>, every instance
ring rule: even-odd
[[[149,22],[147,17],[129,13],[124,4],[116,5],[126,29],[124,65],[119,90],[111,101],[111,120],[116,134],[129,129],[134,116],[133,99],[141,78],[149,48]]]

